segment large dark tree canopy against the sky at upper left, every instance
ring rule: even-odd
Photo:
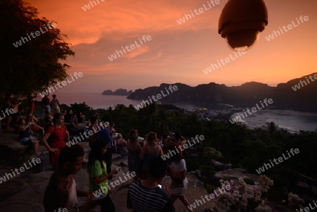
[[[0,96],[28,96],[65,80],[70,66],[61,61],[75,52],[61,30],[48,27],[54,21],[38,18],[37,9],[21,0],[0,0],[0,13]]]

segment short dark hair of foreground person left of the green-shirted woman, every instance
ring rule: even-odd
[[[80,144],[65,146],[63,149],[61,149],[61,152],[58,156],[58,166],[61,167],[67,162],[75,163],[78,157],[82,157],[84,154],[85,151],[82,146],[80,146]]]

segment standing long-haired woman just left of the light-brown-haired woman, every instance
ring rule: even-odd
[[[135,177],[133,180],[139,179],[139,174],[141,170],[141,160],[139,159],[139,154],[141,153],[141,145],[139,144],[139,135],[137,130],[130,130],[130,139],[127,142],[128,149],[128,167],[130,173],[135,172]]]

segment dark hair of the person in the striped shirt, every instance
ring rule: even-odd
[[[164,177],[168,164],[161,156],[154,156],[149,161],[149,175],[154,178]]]

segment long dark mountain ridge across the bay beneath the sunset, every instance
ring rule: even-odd
[[[274,109],[292,109],[297,111],[317,111],[316,96],[317,82],[304,83],[306,77],[316,75],[312,73],[299,79],[290,80],[286,83],[280,83],[277,87],[271,87],[259,82],[246,82],[240,86],[228,87],[214,82],[204,85],[191,87],[182,83],[175,83],[177,90],[170,92],[169,84],[161,84],[155,87],[137,89],[127,98],[147,100],[148,96],[156,96],[163,92],[165,96],[161,98],[163,104],[174,104],[176,102],[185,102],[190,104],[231,104],[240,107],[252,107],[259,104],[263,99],[273,99],[273,104],[266,108]],[[303,81],[302,85],[299,84]],[[297,85],[296,87],[294,87]],[[301,86],[299,86],[301,85]],[[296,89],[296,91],[294,90]],[[167,90],[167,91],[166,91]]]

